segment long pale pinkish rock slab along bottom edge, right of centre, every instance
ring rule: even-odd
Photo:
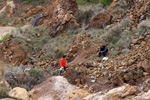
[[[121,87],[110,90],[106,94],[102,94],[101,92],[91,94],[83,98],[83,100],[121,100],[121,98],[133,95],[136,92],[137,92],[136,86],[125,84]]]

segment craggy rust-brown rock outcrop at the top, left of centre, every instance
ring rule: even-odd
[[[75,0],[52,0],[43,11],[43,17],[39,24],[44,24],[50,30],[51,36],[60,34],[69,27],[78,27],[73,16],[78,6]]]

